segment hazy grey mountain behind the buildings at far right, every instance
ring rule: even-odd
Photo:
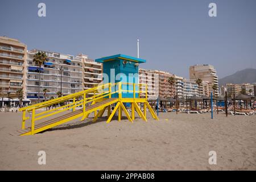
[[[227,83],[242,84],[256,82],[256,69],[248,68],[226,76],[218,80],[218,85],[222,86]]]

